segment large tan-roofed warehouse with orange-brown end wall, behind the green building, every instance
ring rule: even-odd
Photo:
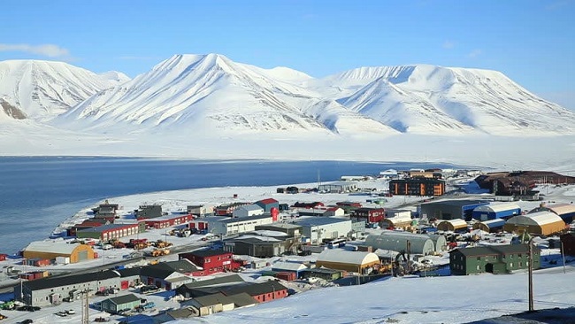
[[[552,235],[565,229],[565,222],[553,212],[533,212],[511,217],[503,229],[510,233],[527,233],[534,235]]]

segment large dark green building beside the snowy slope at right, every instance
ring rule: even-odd
[[[509,274],[529,266],[527,244],[492,245],[449,252],[451,274]],[[540,267],[540,249],[533,247],[533,269]]]

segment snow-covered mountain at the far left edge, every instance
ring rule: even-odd
[[[50,120],[117,83],[63,62],[0,62],[0,99],[33,120]]]

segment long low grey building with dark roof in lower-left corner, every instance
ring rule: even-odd
[[[120,275],[116,271],[106,270],[89,274],[46,277],[14,286],[14,297],[27,305],[58,305],[66,297],[79,299],[82,291],[90,296],[97,290],[120,288]]]

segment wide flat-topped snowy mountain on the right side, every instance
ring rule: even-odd
[[[572,134],[575,114],[502,73],[442,66],[362,67],[326,77],[314,89],[354,112],[418,134]]]

